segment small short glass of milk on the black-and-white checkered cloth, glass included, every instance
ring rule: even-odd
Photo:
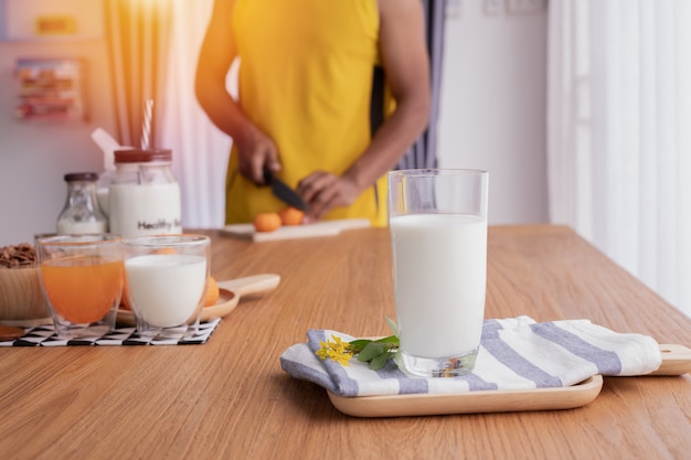
[[[137,333],[160,339],[194,335],[209,285],[211,239],[204,235],[125,238],[125,296]]]

